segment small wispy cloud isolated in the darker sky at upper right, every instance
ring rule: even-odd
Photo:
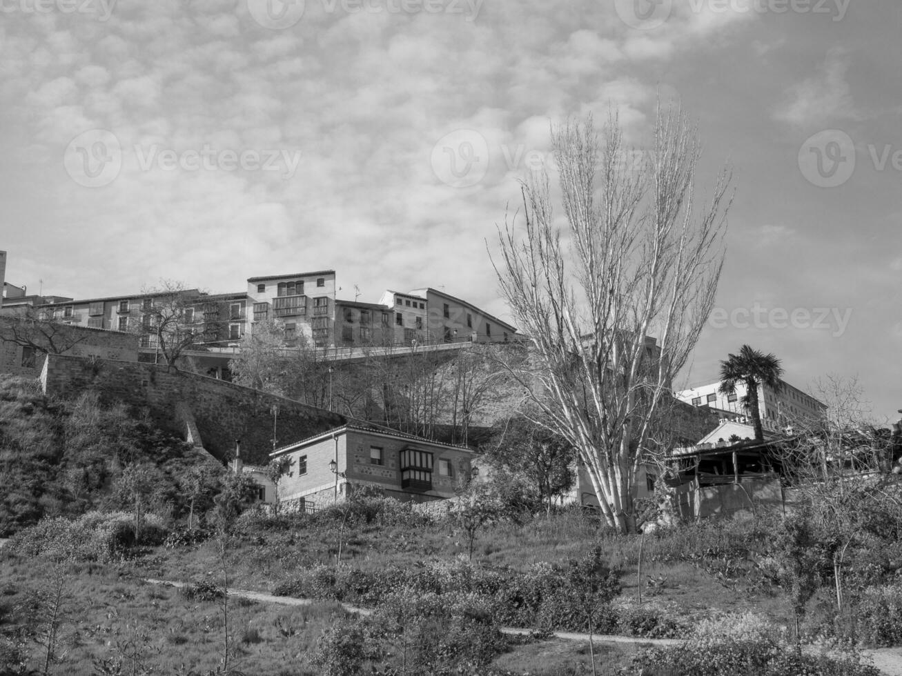
[[[787,103],[777,108],[774,119],[795,126],[825,126],[861,119],[846,81],[848,69],[845,52],[830,50],[818,75],[789,88]]]

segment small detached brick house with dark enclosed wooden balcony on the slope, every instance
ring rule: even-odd
[[[276,449],[288,458],[279,483],[281,503],[322,507],[359,487],[405,502],[454,498],[472,476],[477,454],[465,446],[348,423]]]

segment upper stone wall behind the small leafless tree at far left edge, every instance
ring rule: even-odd
[[[14,327],[36,345],[46,345],[41,330],[51,333],[58,346],[69,346],[64,353],[74,357],[93,357],[115,361],[138,361],[138,336],[132,333],[102,331],[60,323],[36,323],[32,328],[15,315],[0,315],[0,373],[37,378],[44,355],[10,343]],[[41,329],[41,330],[39,330]]]

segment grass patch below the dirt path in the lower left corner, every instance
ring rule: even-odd
[[[52,576],[35,560],[8,557],[0,562],[0,598],[7,626],[12,609]],[[112,568],[74,566],[65,571],[65,619],[61,627],[63,660],[56,673],[94,673],[103,659],[122,659],[137,648],[139,660],[155,673],[206,672],[223,656],[224,620],[216,602],[192,602],[177,589],[128,580]],[[235,645],[232,664],[253,674],[308,674],[305,655],[323,630],[345,611],[334,603],[280,607],[243,599],[229,601],[229,628]],[[41,613],[34,614],[41,620]],[[40,646],[32,644],[32,666]],[[131,672],[130,670],[128,672]]]

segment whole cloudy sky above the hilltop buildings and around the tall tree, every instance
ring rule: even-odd
[[[0,0],[7,280],[225,292],[334,268],[509,316],[486,251],[548,125],[656,96],[736,199],[688,383],[741,343],[902,407],[902,7],[877,0]],[[896,416],[897,417],[897,416]],[[895,419],[895,418],[894,418]]]

